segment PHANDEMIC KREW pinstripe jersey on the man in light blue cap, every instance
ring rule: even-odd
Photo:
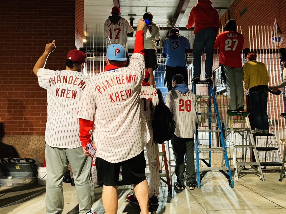
[[[150,139],[140,109],[144,56],[134,53],[128,67],[99,73],[89,79],[78,118],[94,121],[96,157],[118,163],[139,155]]]

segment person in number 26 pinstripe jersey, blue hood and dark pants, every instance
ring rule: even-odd
[[[184,182],[187,180],[190,190],[196,187],[196,172],[195,172],[195,143],[194,134],[197,123],[197,99],[196,95],[191,92],[184,82],[184,77],[181,74],[176,74],[172,78],[173,89],[166,95],[166,106],[174,114],[176,122],[175,133],[171,139],[175,155],[175,174],[177,182],[174,187],[178,190],[184,190]],[[186,174],[185,170],[185,153],[187,156]]]

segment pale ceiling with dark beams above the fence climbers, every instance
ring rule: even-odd
[[[229,7],[232,0],[213,1],[213,7]],[[168,19],[172,19],[179,0],[119,0],[121,16],[129,20],[128,14],[136,14],[134,24],[136,25],[139,18],[142,18],[146,12],[153,14],[153,21],[158,25],[166,25]],[[191,0],[184,16],[180,22],[180,27],[186,26],[188,17],[196,0]],[[84,1],[84,25],[90,23],[104,23],[111,14],[111,8],[114,6],[113,0],[85,0]],[[219,11],[219,10],[218,10]],[[223,14],[225,10],[220,10]]]

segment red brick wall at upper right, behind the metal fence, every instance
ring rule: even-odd
[[[249,34],[248,26],[272,26],[275,18],[285,36],[280,48],[286,47],[286,4],[285,1],[249,1],[249,0],[235,0],[229,7],[231,19],[235,19],[238,26],[242,26],[242,34],[244,36],[244,48],[249,48]],[[247,5],[247,11],[240,17],[240,11]],[[229,12],[221,15],[220,23],[224,26],[228,20]],[[267,30],[267,29],[266,29]],[[270,29],[269,29],[270,31]],[[254,35],[255,36],[255,35]],[[268,38],[267,38],[268,39]]]

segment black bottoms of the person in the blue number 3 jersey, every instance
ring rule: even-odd
[[[173,88],[173,86],[172,86],[172,78],[176,74],[183,75],[184,82],[186,83],[186,85],[188,85],[188,71],[186,69],[186,66],[183,66],[183,67],[181,67],[181,66],[171,67],[171,66],[166,65],[166,68],[165,68],[165,79],[166,79],[168,91],[171,91],[172,88]]]

